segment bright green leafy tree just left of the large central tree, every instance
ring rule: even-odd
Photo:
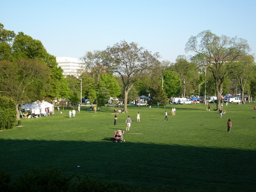
[[[103,74],[100,76],[98,87],[106,87],[109,91],[110,97],[116,98],[121,94],[121,88],[119,84],[116,82],[114,76],[110,74]]]

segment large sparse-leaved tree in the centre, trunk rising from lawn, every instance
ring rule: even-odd
[[[111,72],[118,74],[122,78],[124,86],[124,112],[127,111],[127,98],[133,84],[143,73],[153,70],[160,65],[158,53],[151,54],[143,47],[138,47],[137,43],[128,44],[126,41],[108,46],[108,67]]]

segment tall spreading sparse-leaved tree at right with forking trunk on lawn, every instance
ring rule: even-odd
[[[200,43],[198,43],[200,42]],[[228,36],[217,36],[210,30],[203,31],[197,36],[191,36],[185,47],[186,52],[195,52],[207,63],[212,72],[217,95],[217,109],[220,108],[220,96],[223,92],[223,82],[234,68],[237,57],[247,55],[250,47],[245,39]]]

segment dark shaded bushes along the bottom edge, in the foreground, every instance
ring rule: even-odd
[[[142,189],[134,189],[133,186],[118,184],[115,182],[103,182],[92,180],[88,176],[64,176],[56,168],[40,172],[33,169],[32,172],[24,172],[11,182],[10,175],[4,171],[0,173],[1,192],[143,192]],[[76,179],[76,182],[73,180]],[[157,192],[158,190],[152,190]]]

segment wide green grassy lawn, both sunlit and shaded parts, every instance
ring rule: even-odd
[[[57,167],[67,175],[85,173],[145,190],[254,191],[253,105],[224,104],[227,114],[222,118],[217,111],[206,111],[204,104],[151,109],[131,105],[128,113],[117,114],[117,125],[111,107],[95,114],[82,106],[75,118],[69,118],[70,108],[61,108],[62,114],[55,110],[52,116],[22,119],[22,127],[0,132],[0,170],[16,177],[30,167]],[[175,116],[172,107],[177,109]],[[111,137],[126,128],[128,115],[132,124],[124,132],[125,142],[114,143]]]

